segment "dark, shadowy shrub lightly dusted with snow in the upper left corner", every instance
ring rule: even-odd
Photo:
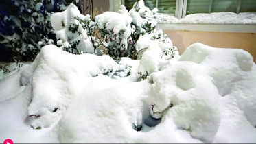
[[[38,41],[51,32],[51,12],[60,11],[70,0],[0,1],[0,43],[17,61],[32,61],[40,51]]]

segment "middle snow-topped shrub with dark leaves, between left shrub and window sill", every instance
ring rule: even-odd
[[[104,46],[108,55],[115,60],[124,57],[127,50],[127,40],[131,34],[130,16],[119,14],[117,12],[104,12],[95,16],[95,29],[100,30],[102,38],[104,38]]]

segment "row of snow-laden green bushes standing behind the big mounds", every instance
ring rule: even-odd
[[[143,47],[139,38],[149,34],[150,41],[161,45],[162,53],[172,58],[175,53],[172,41],[161,29],[155,29],[157,9],[150,10],[143,0],[135,2],[128,12],[121,5],[118,12],[104,12],[92,20],[89,15],[80,14],[75,5],[69,5],[64,12],[51,16],[51,25],[57,38],[57,46],[70,53],[108,54],[118,61],[121,57],[140,59],[148,47]],[[51,41],[41,43],[47,45]],[[105,49],[105,50],[104,50]],[[143,51],[141,51],[144,49]]]

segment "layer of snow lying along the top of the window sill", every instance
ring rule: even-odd
[[[213,12],[210,14],[189,14],[183,19],[177,19],[170,14],[159,13],[158,23],[190,23],[190,24],[256,24],[256,12]]]

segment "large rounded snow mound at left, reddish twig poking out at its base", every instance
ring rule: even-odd
[[[21,77],[24,85],[31,82],[33,88],[32,102],[28,107],[28,114],[34,117],[32,127],[47,128],[57,122],[78,93],[76,90],[80,84],[86,84],[90,77],[102,75],[104,71],[118,70],[119,67],[109,56],[75,56],[54,45],[43,47]]]

